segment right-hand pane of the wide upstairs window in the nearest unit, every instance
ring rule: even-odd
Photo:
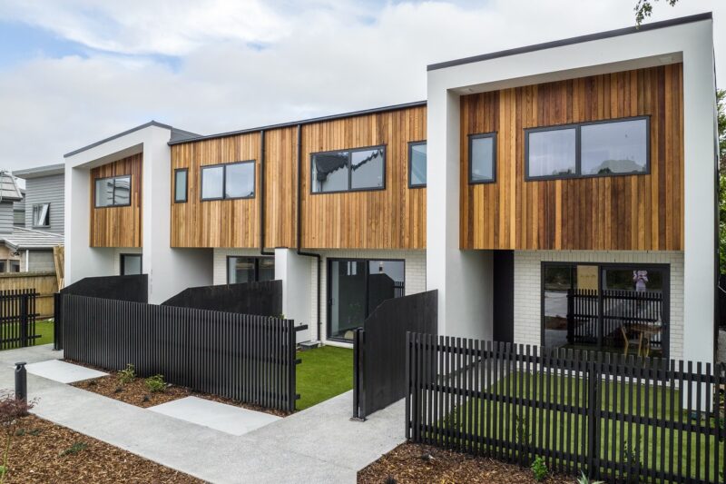
[[[581,128],[583,174],[645,173],[648,121],[585,124]]]

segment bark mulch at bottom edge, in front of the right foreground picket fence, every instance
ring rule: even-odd
[[[389,479],[392,478],[392,479]],[[394,480],[395,479],[395,480]],[[358,471],[358,484],[419,482],[529,484],[537,481],[531,469],[495,459],[477,458],[452,450],[404,443]],[[545,484],[573,484],[574,479],[549,476]]]

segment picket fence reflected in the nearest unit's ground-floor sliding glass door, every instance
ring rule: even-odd
[[[569,290],[567,342],[620,348],[631,333],[644,331],[653,335],[650,345],[667,356],[668,311],[663,308],[662,292]]]

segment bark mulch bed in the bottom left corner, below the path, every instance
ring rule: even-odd
[[[34,415],[12,431],[5,483],[203,482]],[[0,439],[5,450],[5,433]]]

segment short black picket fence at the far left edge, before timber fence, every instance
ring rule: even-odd
[[[0,350],[33,346],[40,338],[35,331],[37,297],[34,289],[0,291]]]

